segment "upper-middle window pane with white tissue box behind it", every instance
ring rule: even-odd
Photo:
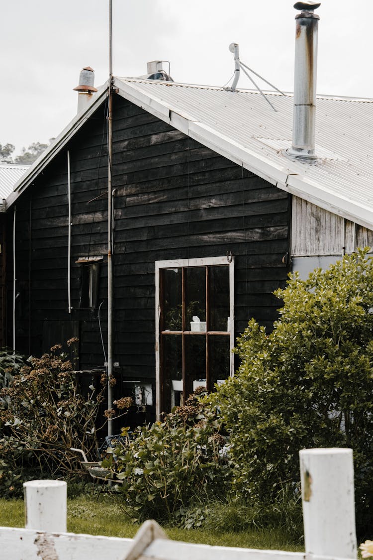
[[[206,268],[185,268],[185,330],[206,332]],[[202,324],[192,324],[193,317]]]

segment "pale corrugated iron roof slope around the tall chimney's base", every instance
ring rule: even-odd
[[[292,162],[282,153],[291,146],[292,94],[267,94],[275,105],[275,113],[256,91],[119,80],[130,83],[140,94],[163,102],[171,111],[209,126],[216,134],[232,139],[277,167],[283,166],[284,170],[317,184],[328,193],[329,202],[324,207],[330,211],[336,211],[343,198],[371,210],[373,217],[373,100],[317,97],[315,141],[320,161],[309,165]]]

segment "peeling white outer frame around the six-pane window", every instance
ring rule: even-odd
[[[214,265],[229,266],[229,375],[234,375],[234,257],[211,256],[197,259],[157,260],[155,261],[155,414],[160,417],[160,351],[159,351],[159,320],[160,293],[159,276],[164,268],[211,267]]]

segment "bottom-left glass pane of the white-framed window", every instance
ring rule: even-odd
[[[162,412],[182,404],[182,335],[162,334]]]

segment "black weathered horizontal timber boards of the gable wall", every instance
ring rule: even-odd
[[[81,369],[102,367],[105,361],[98,308],[79,309],[81,265],[75,261],[79,256],[103,256],[98,305],[103,302],[105,341],[106,143],[102,107],[17,200],[17,286],[27,302],[16,318],[17,346],[38,353],[48,321],[54,321],[53,333],[56,321],[64,333],[71,321],[72,333],[79,324]],[[71,314],[67,150],[72,184]],[[242,332],[251,316],[270,328],[279,306],[271,292],[284,286],[289,270],[282,263],[289,251],[289,195],[119,96],[114,100],[113,151],[114,361],[124,378],[154,380],[156,260],[232,252],[235,330]],[[10,218],[11,214],[9,239]]]

